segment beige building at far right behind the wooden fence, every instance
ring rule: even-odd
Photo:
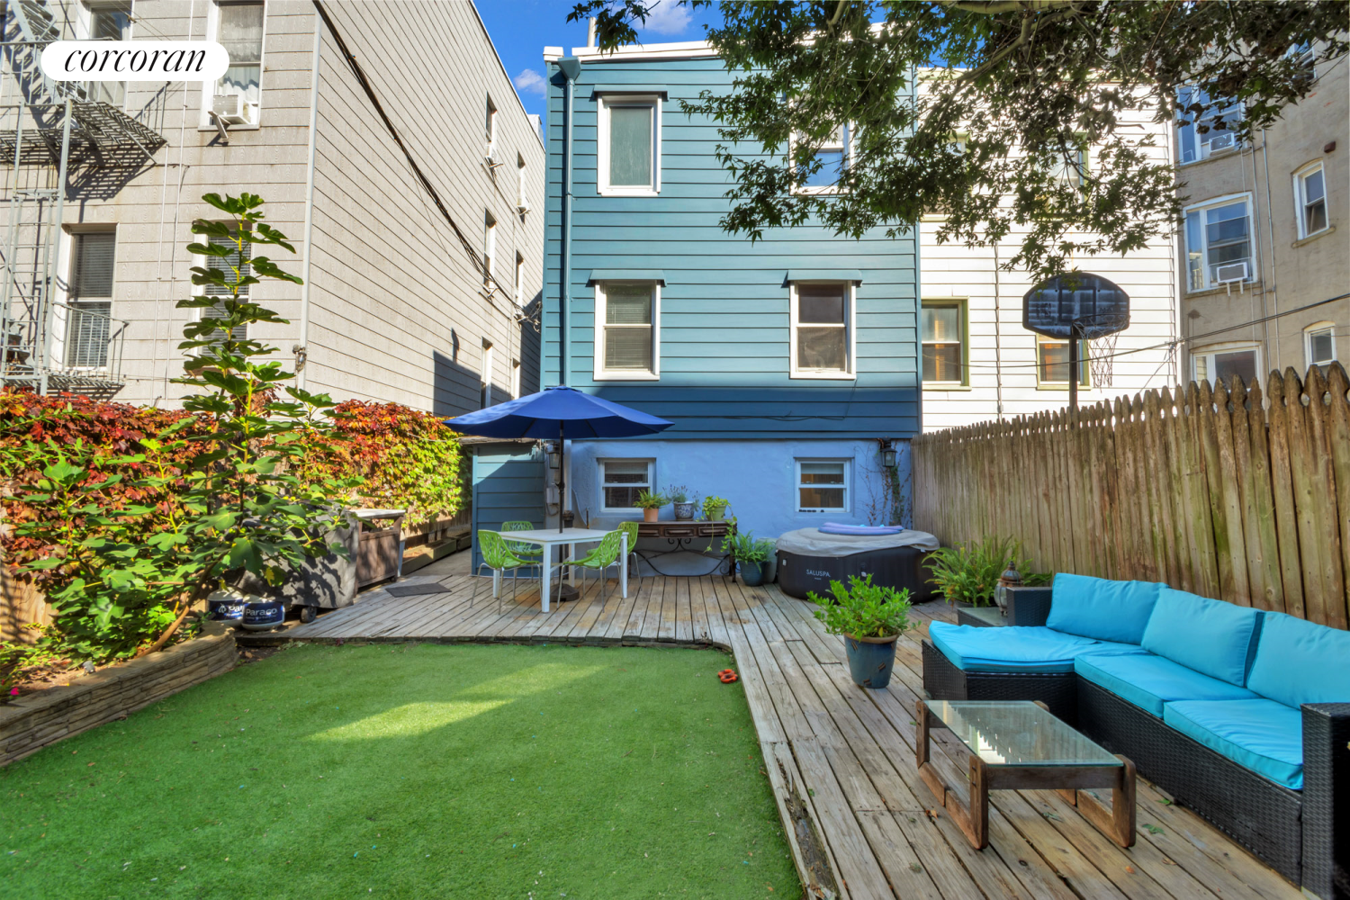
[[[1249,144],[1177,128],[1184,379],[1350,359],[1350,61],[1310,76]]]

